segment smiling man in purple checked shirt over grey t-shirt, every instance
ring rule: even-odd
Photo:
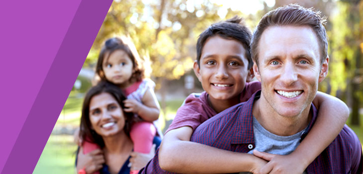
[[[254,149],[280,155],[292,152],[316,120],[317,110],[311,102],[318,83],[328,73],[328,43],[323,22],[317,12],[298,5],[267,13],[251,44],[253,68],[262,91],[201,124],[191,141],[250,154]],[[267,160],[272,158],[269,154],[255,154]],[[278,161],[278,156],[274,158]],[[362,174],[362,166],[362,146],[354,132],[345,126],[302,172]],[[284,171],[267,164],[260,172]]]

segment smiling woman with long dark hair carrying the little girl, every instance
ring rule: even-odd
[[[130,168],[140,170],[154,156],[154,148],[150,154],[132,152],[129,132],[134,117],[123,111],[125,99],[118,87],[106,82],[100,82],[86,94],[80,137],[85,143],[96,143],[100,149],[88,153],[90,150],[80,148],[76,162],[79,173],[129,174]],[[154,142],[160,145],[160,139]]]

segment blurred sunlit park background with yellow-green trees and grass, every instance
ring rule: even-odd
[[[202,91],[192,71],[198,35],[235,15],[244,17],[253,31],[266,12],[289,3],[314,7],[327,16],[330,71],[319,90],[347,103],[351,108],[347,124],[363,142],[363,0],[114,0],[34,174],[75,174],[73,133],[107,38],[130,36],[150,64],[161,105],[159,126],[165,131],[185,97]]]

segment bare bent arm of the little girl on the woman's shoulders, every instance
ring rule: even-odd
[[[148,88],[142,98],[142,103],[134,99],[124,101],[126,112],[134,112],[145,121],[155,121],[159,118],[160,106],[153,90]]]

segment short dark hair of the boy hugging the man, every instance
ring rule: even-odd
[[[196,61],[200,66],[200,56],[206,40],[210,37],[218,35],[224,39],[234,39],[240,42],[246,50],[246,58],[248,60],[248,69],[253,66],[251,58],[250,42],[252,33],[243,22],[243,19],[238,16],[234,16],[231,19],[214,23],[204,30],[198,38],[196,43]]]

